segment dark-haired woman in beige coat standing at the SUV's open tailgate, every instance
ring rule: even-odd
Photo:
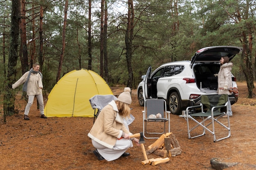
[[[220,71],[218,73],[218,90],[217,93],[219,95],[228,94],[231,95],[231,92],[228,88],[232,87],[232,70],[233,63],[229,62],[229,57],[221,57],[220,58]],[[228,114],[232,116],[231,104],[228,97]]]

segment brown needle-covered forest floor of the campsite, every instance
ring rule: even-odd
[[[224,162],[238,162],[227,170],[255,170],[256,165],[256,98],[247,99],[247,85],[237,82],[238,102],[232,105],[230,117],[231,137],[213,142],[213,135],[188,139],[186,120],[178,115],[171,116],[171,132],[179,142],[182,154],[169,157],[168,163],[157,166],[142,165],[141,147],[134,146],[127,152],[129,157],[114,161],[98,161],[93,154],[95,148],[87,136],[93,125],[89,117],[49,117],[41,119],[36,102],[31,107],[29,121],[24,120],[24,110],[7,117],[2,122],[0,113],[0,170],[213,170],[210,159],[220,158]],[[124,87],[112,87],[114,95]],[[254,89],[255,91],[255,89]],[[129,128],[132,133],[142,131],[142,110],[137,100],[137,91],[132,90],[131,114],[135,120]],[[158,126],[155,126],[158,128]],[[147,146],[156,139],[145,139]],[[157,158],[150,154],[148,159]]]

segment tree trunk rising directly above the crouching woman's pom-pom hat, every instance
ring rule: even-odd
[[[133,1],[128,0],[128,19],[127,19],[127,29],[125,35],[125,44],[126,44],[126,61],[128,68],[128,82],[127,86],[132,88],[132,39],[133,39],[133,28],[134,28],[134,8]]]

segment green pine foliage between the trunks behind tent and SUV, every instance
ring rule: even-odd
[[[27,1],[27,39],[28,53],[31,56],[32,22],[35,21],[36,54],[39,56],[39,16],[32,15],[39,12],[43,6],[43,72],[44,90],[49,92],[56,83],[59,59],[62,48],[62,29],[65,1],[34,0]],[[92,71],[100,73],[100,1],[92,2]],[[98,4],[99,3],[99,4]],[[135,27],[132,40],[132,70],[134,87],[141,81],[148,66],[153,69],[166,62],[191,60],[195,51],[205,46],[234,45],[243,46],[241,35],[252,33],[255,35],[256,19],[254,16],[254,1],[250,1],[249,13],[246,18],[246,4],[236,0],[141,0],[134,1]],[[10,10],[11,1],[0,4],[0,32],[5,29],[6,46],[9,48]],[[109,84],[127,84],[128,71],[126,61],[126,46],[124,35],[127,27],[126,2],[108,1],[108,71]],[[117,6],[124,7],[120,11]],[[236,18],[240,11],[242,19]],[[69,0],[67,12],[67,29],[65,34],[65,54],[61,70],[61,77],[74,69],[88,68],[88,1]],[[4,24],[3,24],[4,23]],[[252,56],[255,56],[255,38],[253,38]],[[2,48],[3,36],[0,35]],[[8,55],[8,50],[6,50]],[[4,73],[3,54],[0,50],[0,74]],[[239,61],[236,56],[233,73],[239,79],[241,74]],[[79,63],[81,62],[81,63]],[[19,61],[18,61],[18,64]],[[80,65],[81,64],[81,65]],[[18,75],[21,75],[20,69]],[[17,77],[18,77],[17,75]],[[4,77],[0,77],[0,87],[3,89]]]

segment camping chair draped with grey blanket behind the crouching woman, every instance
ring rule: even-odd
[[[105,107],[112,100],[117,100],[117,97],[115,97],[114,95],[94,95],[92,98],[89,99],[89,102],[92,108],[94,109],[93,123],[95,121],[95,118],[98,117],[103,107]],[[96,108],[97,108],[97,113],[96,113]]]

